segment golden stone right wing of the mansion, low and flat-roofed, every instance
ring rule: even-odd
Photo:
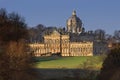
[[[71,56],[93,56],[93,42],[71,42]]]

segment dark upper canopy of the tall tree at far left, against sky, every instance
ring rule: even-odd
[[[0,41],[18,41],[27,36],[27,25],[24,18],[15,12],[7,13],[0,9]]]

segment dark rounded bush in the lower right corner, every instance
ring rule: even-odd
[[[120,45],[111,50],[103,63],[99,80],[120,79]]]

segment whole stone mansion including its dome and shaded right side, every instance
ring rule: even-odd
[[[92,32],[85,32],[82,21],[77,17],[76,11],[66,23],[66,34],[57,30],[43,36],[43,42],[31,43],[30,47],[34,56],[93,56],[106,53],[107,43],[95,36]]]

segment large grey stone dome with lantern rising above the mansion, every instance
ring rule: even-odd
[[[79,33],[82,28],[82,21],[76,15],[76,11],[72,12],[72,16],[67,20],[67,31]]]

